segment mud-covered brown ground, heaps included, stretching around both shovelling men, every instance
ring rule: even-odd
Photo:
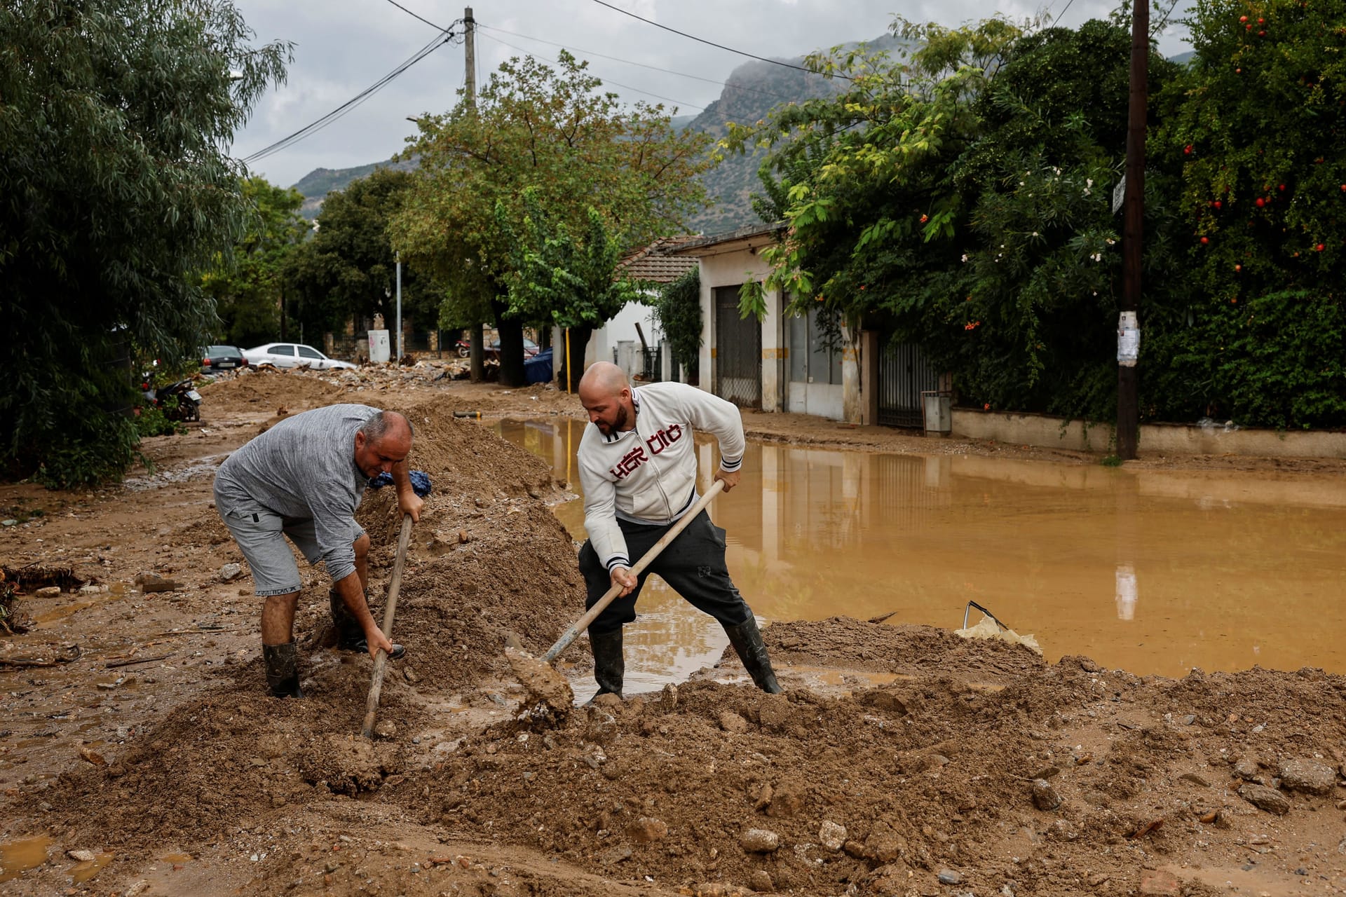
[[[580,409],[549,387],[437,373],[237,377],[202,389],[191,433],[148,440],[153,472],[124,487],[0,488],[15,520],[0,563],[87,584],[22,596],[34,627],[0,644],[4,893],[1346,889],[1346,678],[1318,670],[1141,679],[833,617],[767,628],[783,695],[752,690],[731,652],[560,728],[530,719],[503,650],[541,652],[583,607],[575,545],[548,511],[564,490],[455,412]],[[225,581],[241,557],[209,504],[227,452],[283,413],[334,401],[406,412],[413,467],[435,483],[398,601],[408,656],[390,667],[373,742],[355,736],[367,656],[310,639],[308,698],[264,697],[257,600],[246,573]],[[747,426],[929,451],[790,416]],[[361,520],[377,580],[393,496],[371,491]],[[304,570],[296,628],[310,637],[327,581]],[[147,592],[143,574],[176,588]],[[580,641],[560,664],[575,676],[588,667]]]

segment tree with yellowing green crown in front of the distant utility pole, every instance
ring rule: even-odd
[[[476,105],[421,116],[406,151],[420,168],[393,221],[393,245],[446,284],[452,309],[441,320],[494,319],[505,383],[524,381],[524,324],[552,320],[520,317],[509,297],[507,233],[525,231],[525,188],[537,191],[553,227],[586,233],[592,208],[625,247],[678,230],[704,206],[695,176],[712,164],[707,137],[674,130],[662,106],[622,106],[600,86],[569,54],[557,69],[514,58],[491,74]]]

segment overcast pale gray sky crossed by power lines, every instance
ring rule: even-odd
[[[876,38],[894,13],[958,26],[993,9],[1023,19],[1042,12],[1057,24],[1105,17],[1116,0],[606,0],[670,28],[762,56],[793,56],[848,40]],[[995,5],[992,5],[992,1]],[[1191,0],[1179,0],[1176,23]],[[436,26],[463,17],[444,0],[234,0],[256,42],[288,40],[295,59],[236,136],[246,157],[315,122],[396,70],[436,39]],[[511,55],[555,59],[559,46],[588,59],[591,71],[627,101],[645,100],[697,113],[746,56],[697,43],[623,15],[598,0],[474,0],[478,85]],[[462,28],[456,28],[460,34]],[[1160,38],[1183,52],[1186,28]],[[637,65],[639,63],[639,65]],[[666,70],[666,71],[660,71]],[[672,74],[680,73],[680,74]],[[463,86],[463,44],[455,39],[390,81],[316,134],[250,165],[289,186],[314,168],[349,168],[388,159],[415,132],[408,116],[450,109]]]

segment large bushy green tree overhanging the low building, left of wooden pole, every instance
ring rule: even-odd
[[[894,28],[922,42],[909,59],[814,58],[851,89],[730,143],[778,144],[763,210],[790,229],[765,253],[773,284],[798,313],[822,303],[852,328],[921,343],[964,401],[1110,416],[1120,239],[1109,199],[1125,156],[1129,34],[1105,22],[1026,32],[1001,19]],[[1152,83],[1174,74],[1152,56]],[[1164,198],[1176,172],[1156,168],[1151,273],[1174,265]]]

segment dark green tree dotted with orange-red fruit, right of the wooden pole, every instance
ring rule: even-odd
[[[1180,165],[1190,300],[1151,340],[1155,413],[1343,426],[1346,3],[1199,0],[1151,157]],[[1143,401],[1144,401],[1143,395]]]

